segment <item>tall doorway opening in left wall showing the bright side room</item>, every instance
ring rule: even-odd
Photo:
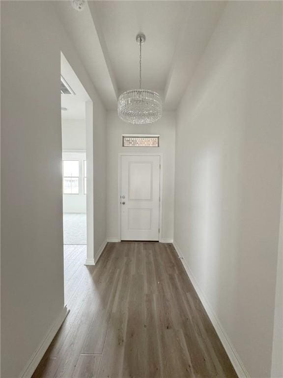
[[[93,248],[92,102],[61,53],[62,201],[65,304]]]

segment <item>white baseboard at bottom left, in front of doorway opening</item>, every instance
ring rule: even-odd
[[[50,346],[52,340],[54,339],[55,335],[57,334],[58,329],[61,327],[63,321],[65,320],[66,316],[69,314],[70,310],[67,309],[65,306],[61,311],[60,315],[57,317],[56,321],[53,323],[52,327],[48,331],[47,335],[45,336],[44,340],[40,344],[40,346],[35,350],[32,354],[31,358],[29,359],[25,369],[20,374],[21,378],[31,378],[32,374],[34,373],[35,369],[37,368],[39,362],[41,361],[44,353],[46,352],[47,348]]]

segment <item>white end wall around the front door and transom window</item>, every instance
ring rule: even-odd
[[[162,239],[173,239],[175,117],[165,111],[150,125],[131,125],[121,121],[116,111],[107,112],[107,237],[118,239],[118,154],[163,153]],[[158,134],[160,147],[122,147],[123,134]]]

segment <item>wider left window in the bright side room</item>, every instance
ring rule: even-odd
[[[63,193],[79,194],[79,160],[63,160]]]

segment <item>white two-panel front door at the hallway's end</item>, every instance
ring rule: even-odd
[[[121,240],[159,240],[160,156],[121,156]]]

